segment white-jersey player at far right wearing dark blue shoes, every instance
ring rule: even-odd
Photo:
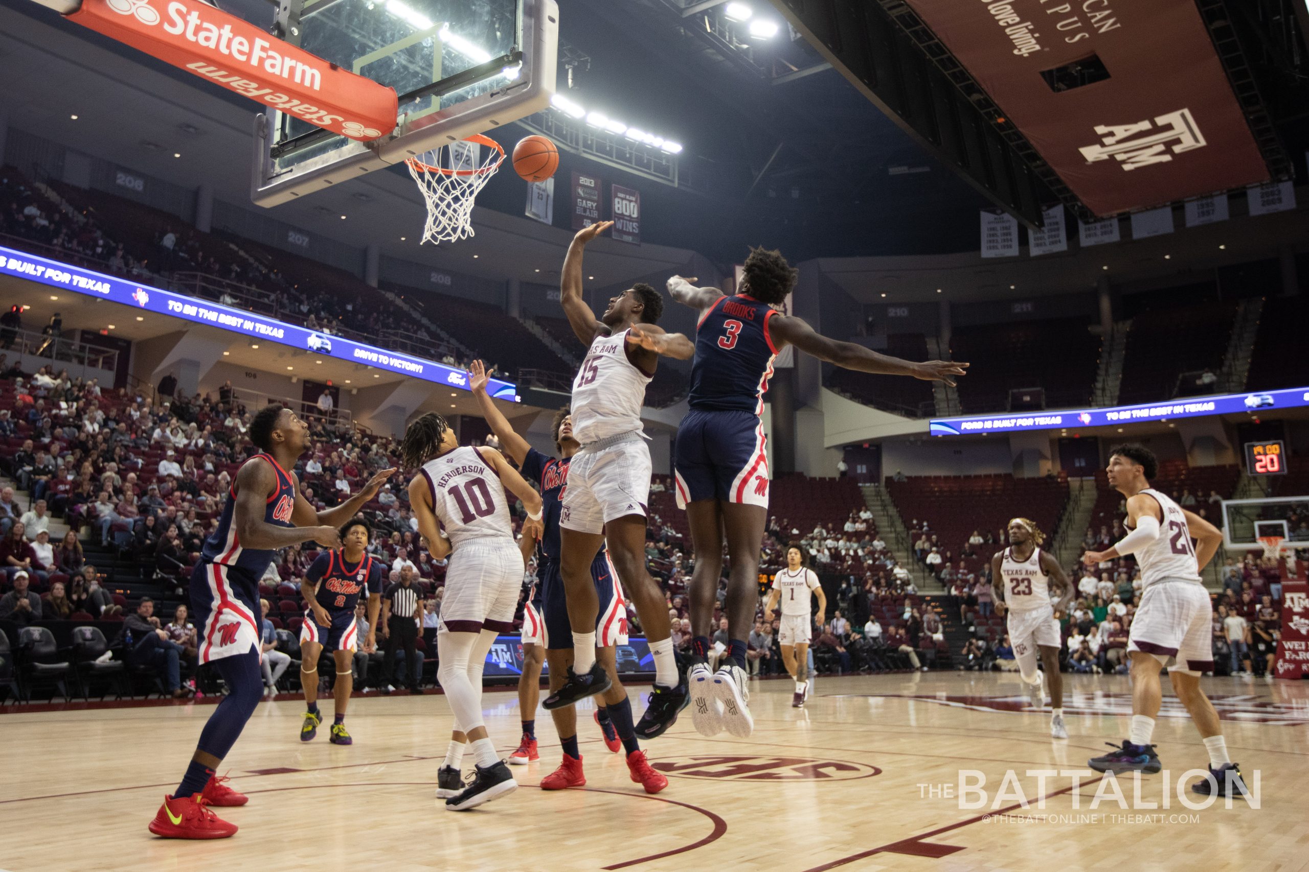
[[[1109,486],[1127,497],[1124,526],[1130,532],[1109,550],[1083,556],[1088,566],[1094,566],[1135,554],[1144,582],[1140,607],[1127,637],[1132,662],[1131,732],[1117,750],[1094,757],[1088,765],[1101,773],[1157,773],[1161,769],[1151,737],[1162,702],[1158,668],[1172,663],[1168,676],[1173,690],[1210,752],[1210,777],[1191,790],[1202,795],[1245,796],[1241,770],[1228,757],[1219,715],[1200,690],[1200,675],[1213,669],[1213,613],[1200,571],[1223,544],[1223,532],[1151,488],[1149,480],[1156,472],[1158,461],[1140,444],[1110,451]]]

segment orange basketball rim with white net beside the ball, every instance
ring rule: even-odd
[[[479,161],[479,149],[470,145],[484,146],[486,157]],[[404,161],[427,201],[423,242],[440,244],[471,237],[473,201],[503,162],[504,148],[480,133]]]

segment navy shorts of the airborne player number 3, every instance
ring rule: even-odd
[[[720,499],[768,506],[763,421],[737,409],[691,409],[677,429],[677,506]]]

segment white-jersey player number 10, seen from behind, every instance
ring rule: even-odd
[[[482,722],[482,669],[495,637],[513,630],[522,588],[524,561],[504,489],[522,501],[524,533],[534,537],[541,536],[541,495],[499,451],[461,448],[454,430],[435,412],[408,426],[401,455],[406,467],[421,468],[410,482],[419,532],[432,557],[450,554],[436,630],[436,675],[454,713],[454,732],[436,795],[445,797],[448,809],[462,812],[517,787]],[[466,743],[473,743],[478,758],[467,787],[459,777]]]

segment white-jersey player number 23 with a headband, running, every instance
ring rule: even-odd
[[[1005,620],[1009,630],[1009,643],[1013,646],[1018,673],[1031,688],[1033,699],[1039,709],[1045,701],[1041,694],[1041,671],[1037,668],[1037,650],[1041,651],[1041,664],[1050,684],[1050,735],[1067,739],[1068,728],[1063,720],[1063,675],[1059,672],[1059,621],[1055,608],[1060,612],[1068,608],[1073,587],[1068,582],[1059,561],[1041,549],[1046,535],[1026,518],[1009,522],[1009,546],[991,558],[991,587],[995,591],[995,607],[1000,614],[1009,612]],[[1050,588],[1060,595],[1059,605],[1050,604]]]

